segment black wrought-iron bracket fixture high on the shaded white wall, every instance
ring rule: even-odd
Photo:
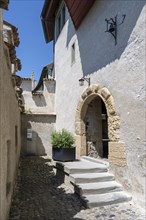
[[[105,19],[105,21],[107,22],[107,27],[105,32],[109,32],[110,34],[112,34],[112,36],[115,39],[115,45],[117,45],[117,26],[123,24],[126,15],[122,15],[122,17],[123,19],[120,24],[117,24],[117,15],[114,18]]]

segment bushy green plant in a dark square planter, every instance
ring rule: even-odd
[[[73,135],[67,130],[53,131],[51,134],[53,160],[62,162],[75,160],[74,142]]]

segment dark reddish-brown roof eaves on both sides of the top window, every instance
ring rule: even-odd
[[[64,0],[75,28],[79,28],[95,0]],[[45,0],[41,19],[46,42],[54,39],[55,12],[60,0]]]

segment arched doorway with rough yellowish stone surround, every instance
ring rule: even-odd
[[[77,154],[109,158],[109,144],[119,141],[119,129],[119,116],[109,90],[101,85],[88,87],[76,110]]]

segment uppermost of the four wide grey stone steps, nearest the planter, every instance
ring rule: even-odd
[[[63,164],[64,172],[68,174],[107,172],[107,166],[105,164],[98,164],[90,161],[74,161],[65,162]]]

